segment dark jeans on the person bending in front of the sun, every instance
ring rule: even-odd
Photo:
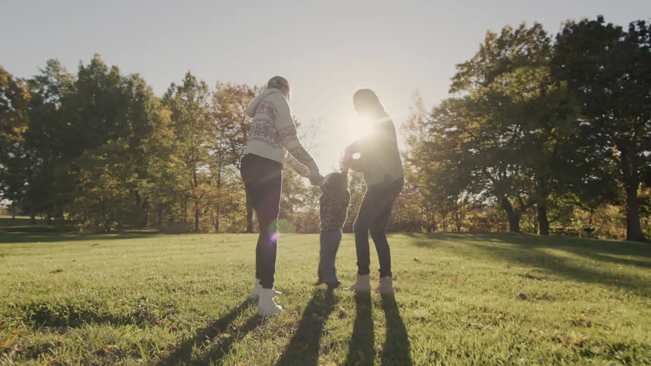
[[[389,184],[373,184],[367,187],[357,218],[353,223],[355,249],[357,249],[357,274],[370,274],[370,249],[368,233],[373,239],[380,260],[380,277],[391,277],[391,250],[387,240],[387,223],[391,218],[393,203],[400,195],[404,179]]]

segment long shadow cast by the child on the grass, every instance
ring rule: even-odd
[[[327,318],[335,309],[336,300],[331,290],[314,292],[298,330],[285,347],[278,366],[318,365],[319,343]]]

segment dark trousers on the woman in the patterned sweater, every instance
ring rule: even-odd
[[[273,288],[278,244],[278,213],[283,190],[283,164],[246,154],[240,167],[249,204],[258,216],[260,236],[255,248],[255,277],[264,289]]]

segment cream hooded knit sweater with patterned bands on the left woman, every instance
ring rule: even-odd
[[[314,159],[296,135],[292,111],[281,91],[267,89],[260,93],[247,107],[247,115],[253,122],[244,154],[255,154],[288,165],[301,176],[318,174]]]

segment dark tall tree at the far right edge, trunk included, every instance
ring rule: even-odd
[[[628,32],[602,16],[569,21],[557,35],[553,73],[566,81],[594,148],[614,160],[626,192],[626,238],[644,241],[638,191],[651,141],[651,29]]]

